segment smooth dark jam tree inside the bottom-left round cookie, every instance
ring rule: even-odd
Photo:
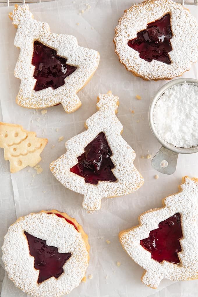
[[[46,241],[24,232],[28,241],[30,255],[34,257],[34,268],[39,270],[37,283],[50,277],[56,279],[64,272],[63,266],[71,253],[59,253],[57,247],[50,247]]]

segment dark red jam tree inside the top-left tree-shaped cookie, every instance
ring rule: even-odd
[[[34,41],[32,65],[35,66],[34,78],[37,80],[34,90],[40,91],[49,87],[57,89],[63,86],[65,78],[77,69],[66,64],[66,61],[67,59],[57,56],[53,48]]]

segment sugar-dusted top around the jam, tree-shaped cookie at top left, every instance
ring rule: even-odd
[[[28,5],[16,5],[9,14],[13,24],[18,27],[14,45],[20,48],[15,67],[15,76],[21,80],[17,103],[26,108],[45,108],[61,103],[70,113],[80,107],[81,102],[76,93],[85,86],[99,64],[99,53],[95,50],[80,47],[72,35],[61,35],[50,32],[47,23],[33,19]],[[34,91],[36,79],[33,77],[35,67],[31,64],[34,41],[57,51],[65,57],[67,63],[77,70],[66,77],[65,84],[57,89],[51,87]]]

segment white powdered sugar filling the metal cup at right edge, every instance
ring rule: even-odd
[[[198,145],[198,86],[172,87],[156,102],[153,120],[160,138],[176,147]]]

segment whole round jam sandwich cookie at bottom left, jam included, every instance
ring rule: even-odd
[[[88,236],[77,221],[56,210],[20,217],[4,236],[8,277],[34,297],[68,294],[85,276]]]

